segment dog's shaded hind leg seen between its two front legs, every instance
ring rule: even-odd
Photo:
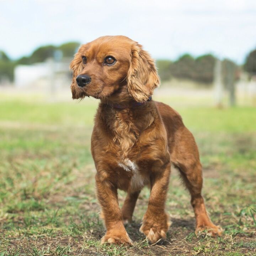
[[[132,222],[132,215],[137,202],[140,191],[128,192],[122,207],[123,223]]]

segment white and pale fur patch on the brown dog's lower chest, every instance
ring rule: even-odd
[[[119,162],[118,166],[122,167],[123,171],[132,174],[129,184],[130,192],[138,191],[149,183],[148,177],[140,173],[139,166],[134,161],[126,158],[122,162]]]

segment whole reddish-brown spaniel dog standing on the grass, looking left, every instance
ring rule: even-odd
[[[201,196],[202,167],[193,135],[180,115],[151,100],[159,77],[150,55],[124,36],[100,37],[84,44],[71,62],[74,99],[100,99],[91,138],[97,169],[97,195],[107,232],[102,242],[130,244],[124,224],[132,220],[140,190],[151,188],[140,231],[150,242],[166,238],[165,201],[175,165],[191,194],[196,233],[222,229],[209,219]],[[117,189],[127,191],[122,210]]]

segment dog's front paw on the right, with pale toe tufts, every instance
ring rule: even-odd
[[[166,232],[170,226],[168,219],[169,216],[165,213],[157,218],[154,215],[149,217],[145,214],[140,232],[144,233],[151,244],[154,244],[160,239],[166,239]]]

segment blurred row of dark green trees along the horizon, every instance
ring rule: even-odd
[[[30,56],[17,60],[11,60],[4,52],[0,51],[0,79],[5,77],[12,81],[16,65],[31,65],[33,63],[44,62],[48,58],[71,58],[79,45],[80,43],[78,42],[69,42],[60,46],[41,46],[34,50]],[[197,81],[204,85],[211,85],[214,79],[215,62],[216,58],[212,54],[202,55],[197,58],[194,58],[190,54],[184,54],[174,62],[171,60],[157,60],[156,66],[158,67],[158,73],[162,81],[172,78],[182,78]],[[250,75],[256,74],[256,49],[249,53],[243,68]],[[238,78],[238,70],[239,67],[231,60],[224,59],[222,61],[223,81],[226,87],[231,83],[231,73],[233,74],[234,80]]]

